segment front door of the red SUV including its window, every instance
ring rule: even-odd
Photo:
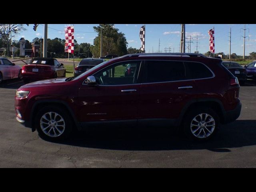
[[[112,64],[94,74],[96,86],[82,84],[78,93],[80,122],[136,123],[141,86],[137,83],[140,64],[141,61]]]

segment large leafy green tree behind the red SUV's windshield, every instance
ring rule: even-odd
[[[94,26],[98,36],[94,38],[94,46],[90,48],[94,57],[100,57],[100,34],[102,31],[102,56],[116,54],[122,56],[127,54],[127,41],[123,33],[114,28],[114,24],[100,24]]]

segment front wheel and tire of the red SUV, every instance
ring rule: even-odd
[[[38,111],[35,126],[38,135],[48,141],[64,140],[72,132],[72,120],[68,112],[66,109],[57,106],[45,106]]]

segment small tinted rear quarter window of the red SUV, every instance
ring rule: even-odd
[[[186,67],[186,77],[188,79],[202,79],[213,76],[212,72],[202,63],[184,62]]]

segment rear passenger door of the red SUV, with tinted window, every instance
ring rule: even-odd
[[[194,80],[186,77],[182,61],[146,60],[143,70],[141,121],[176,119],[186,103],[196,97]]]

